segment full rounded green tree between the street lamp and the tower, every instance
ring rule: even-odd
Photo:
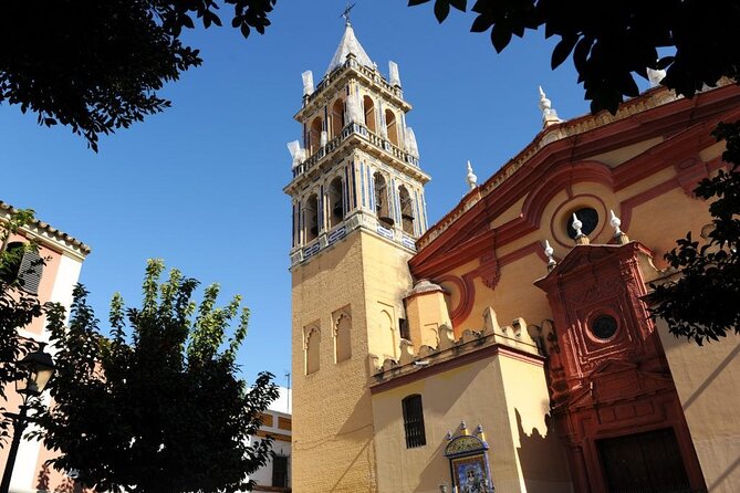
[[[60,452],[55,469],[79,471],[97,491],[247,491],[246,475],[267,462],[271,442],[248,436],[278,396],[272,375],[251,388],[236,375],[249,311],[239,315],[239,296],[217,307],[217,285],[196,306],[198,282],[173,270],[159,283],[163,271],[149,261],[140,308],[114,296],[110,337],[81,285],[69,327],[63,308],[50,311],[58,374],[49,384],[54,406],[37,405],[38,434]]]

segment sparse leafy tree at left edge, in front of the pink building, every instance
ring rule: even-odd
[[[15,361],[35,347],[35,343],[20,337],[18,329],[41,316],[39,300],[21,290],[19,269],[27,249],[8,249],[11,234],[33,220],[32,210],[14,210],[7,222],[0,224],[0,447],[9,436],[11,420],[6,417],[2,402],[7,400],[6,387],[12,385],[21,374]]]

